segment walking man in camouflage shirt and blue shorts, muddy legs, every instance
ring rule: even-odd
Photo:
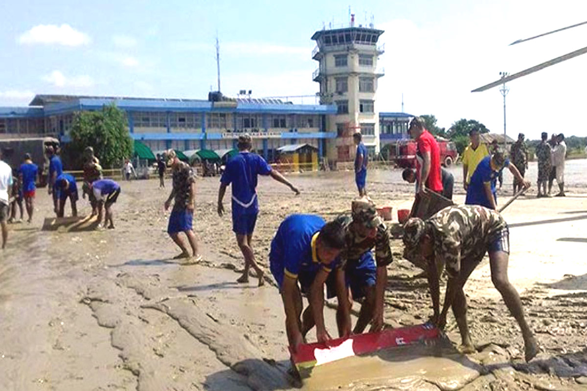
[[[181,254],[175,256],[174,259],[194,256],[195,260],[198,261],[201,256],[198,253],[198,242],[192,229],[195,198],[194,172],[188,164],[177,158],[173,149],[167,151],[167,159],[167,165],[171,167],[173,176],[173,189],[171,189],[171,193],[165,202],[165,210],[169,209],[171,201],[174,201],[173,209],[171,209],[171,215],[169,216],[167,233],[181,249]],[[179,236],[180,232],[184,232],[188,242],[190,242],[191,255]]]

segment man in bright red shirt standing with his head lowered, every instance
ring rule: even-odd
[[[418,193],[426,193],[430,189],[442,193],[442,179],[440,175],[440,149],[434,139],[424,128],[424,121],[414,117],[410,122],[410,136],[417,143],[416,175],[419,178]]]

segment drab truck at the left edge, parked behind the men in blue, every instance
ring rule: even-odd
[[[45,154],[47,147],[59,148],[59,140],[53,137],[0,139],[2,160],[12,169],[16,169],[22,164],[26,153],[31,154],[33,163],[39,166],[39,187],[44,187],[47,184],[47,174],[49,173],[49,158]]]

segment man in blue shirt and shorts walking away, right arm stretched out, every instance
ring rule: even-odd
[[[224,193],[228,185],[232,183],[232,231],[237,235],[237,243],[245,257],[245,269],[238,283],[248,283],[249,268],[254,268],[259,278],[259,287],[264,284],[263,271],[255,261],[252,250],[252,236],[259,213],[257,202],[257,176],[269,175],[278,182],[287,185],[296,195],[299,190],[295,188],[278,171],[271,169],[265,159],[257,154],[249,152],[252,148],[252,139],[248,134],[238,137],[239,154],[232,157],[220,178],[220,190],[218,191],[218,216],[224,214]]]

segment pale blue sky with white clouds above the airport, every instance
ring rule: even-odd
[[[377,90],[380,111],[434,114],[441,126],[474,118],[503,131],[499,77],[587,46],[587,25],[515,46],[509,43],[587,20],[584,0],[495,1],[3,1],[0,105],[26,105],[35,93],[205,98],[311,95],[317,62],[313,32],[334,22],[385,30]],[[587,55],[510,83],[508,134],[587,135],[582,117]],[[310,103],[311,99],[306,99]]]

